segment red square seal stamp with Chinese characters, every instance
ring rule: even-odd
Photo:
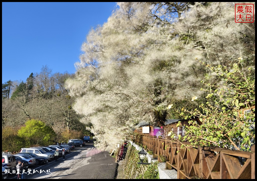
[[[253,23],[254,20],[253,4],[235,4],[235,22]]]

